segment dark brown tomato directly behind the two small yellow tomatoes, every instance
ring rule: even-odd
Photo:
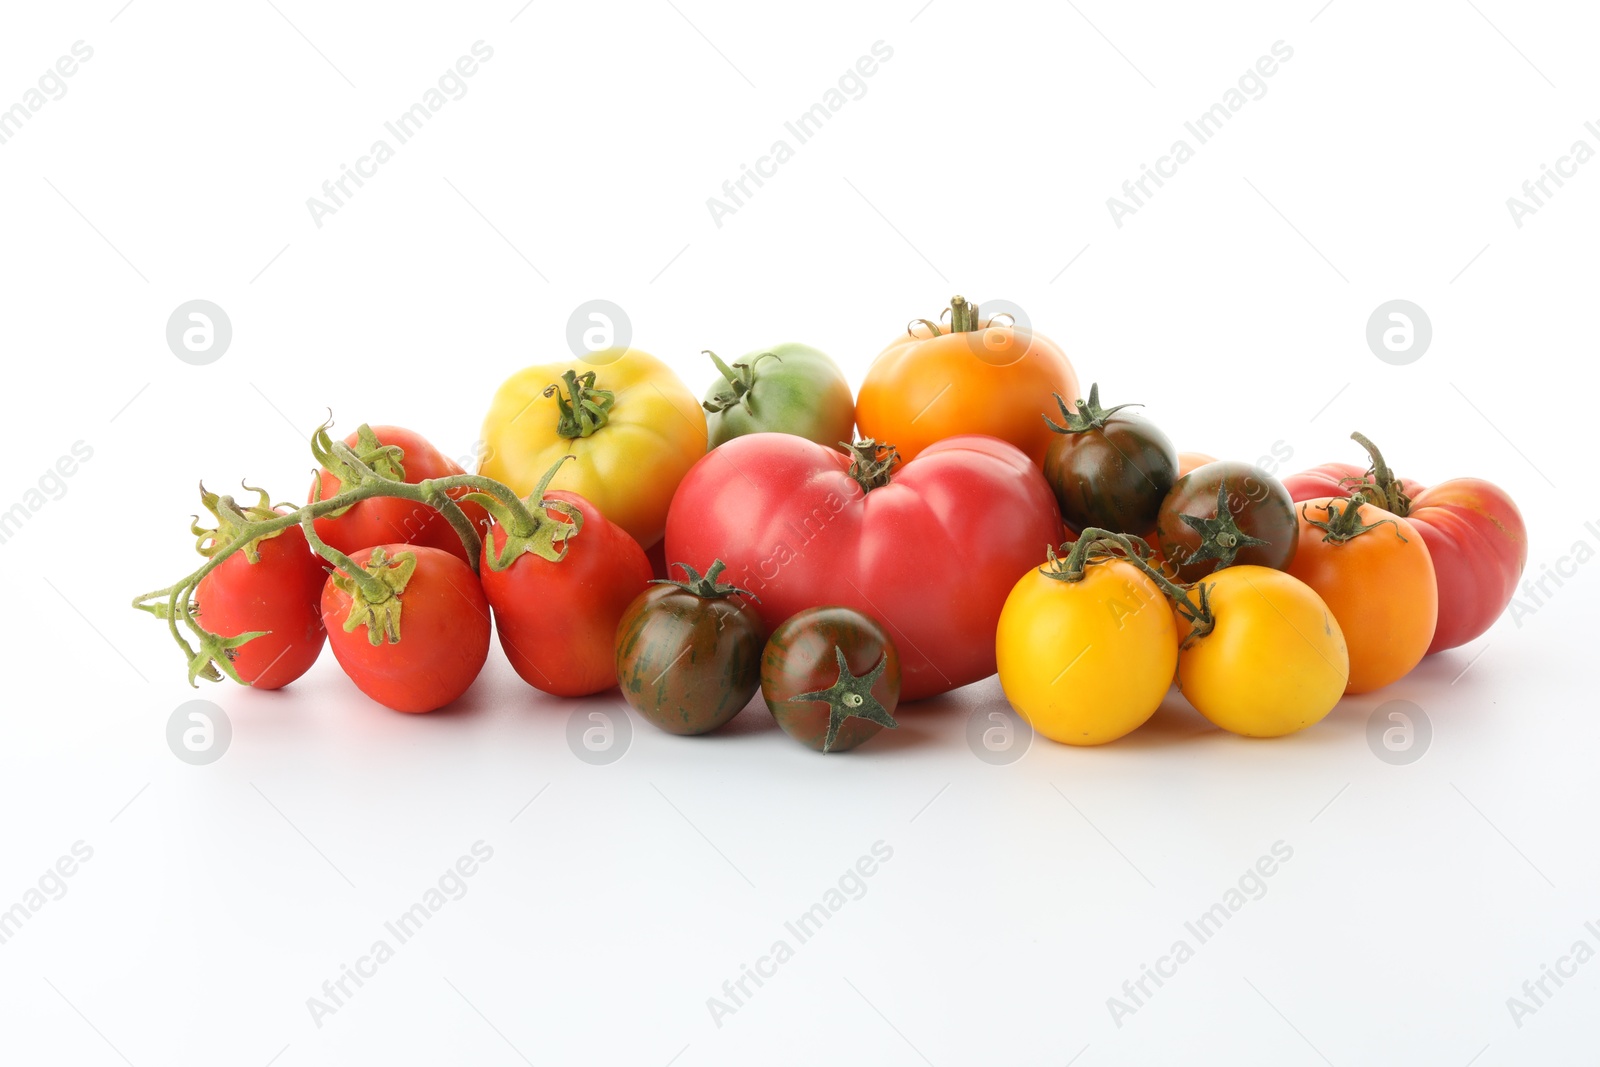
[[[1261,467],[1221,459],[1179,478],[1155,520],[1162,555],[1195,582],[1234,565],[1286,569],[1299,545],[1288,490]]]

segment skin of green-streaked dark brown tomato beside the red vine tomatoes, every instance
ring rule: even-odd
[[[765,638],[742,597],[651,585],[616,625],[616,680],[634,710],[661,729],[710,733],[760,688]]]

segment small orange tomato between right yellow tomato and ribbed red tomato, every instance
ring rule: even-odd
[[[1416,526],[1373,504],[1362,504],[1362,523],[1384,525],[1344,542],[1325,541],[1310,520],[1328,522],[1330,504],[1342,506],[1344,498],[1299,506],[1301,547],[1288,571],[1315,589],[1339,621],[1350,654],[1344,691],[1371,693],[1422,662],[1438,621],[1438,581]]]

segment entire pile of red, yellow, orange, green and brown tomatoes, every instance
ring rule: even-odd
[[[1091,745],[1174,683],[1224,729],[1302,729],[1483,633],[1526,563],[1486,482],[1398,478],[1360,434],[1368,466],[1285,480],[1181,454],[962,298],[854,397],[803,344],[707,355],[702,400],[635,349],[518,371],[477,474],[405,429],[323,429],[304,506],[202,490],[206,563],[136,606],[190,680],[278,688],[326,640],[402,712],[466,693],[498,635],[533,688],[619,688],[678,734],[760,691],[837,752],[998,672],[1038,733]]]

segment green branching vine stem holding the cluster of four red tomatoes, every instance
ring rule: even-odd
[[[339,478],[338,493],[323,498],[318,488],[317,499],[285,512],[270,510],[266,504],[267,496],[259,490],[251,491],[261,494],[261,504],[251,507],[240,507],[230,496],[216,498],[214,514],[218,515],[218,528],[214,531],[203,531],[198,528],[198,520],[192,526],[195,536],[200,537],[197,547],[202,547],[202,555],[206,555],[205,563],[165,589],[155,589],[134,597],[133,606],[136,609],[147,611],[166,622],[168,633],[182,649],[184,659],[189,664],[189,685],[195,685],[197,678],[221,681],[224,677],[243,683],[238,672],[234,670],[234,649],[245,641],[262,637],[264,632],[240,633],[237,637],[211,633],[195,619],[194,597],[195,589],[206,574],[213,573],[238,552],[245,552],[246,558],[251,558],[262,537],[283,533],[290,526],[301,526],[312,549],[350,576],[378,603],[389,595],[389,589],[386,587],[379,595],[376,585],[379,579],[366,576],[362,568],[354,565],[350,557],[323,542],[317,536],[315,520],[339,515],[360,501],[379,496],[426,504],[440,510],[450,522],[451,528],[461,537],[462,549],[466,549],[474,569],[478,566],[482,541],[472,526],[472,520],[467,518],[466,512],[450,496],[451,491],[469,490],[474,496],[494,501],[496,517],[504,517],[509,525],[526,530],[541,526],[539,518],[530,512],[515,490],[507,485],[475,474],[458,474],[419,483],[402,482],[402,450],[378,445],[376,437],[371,437],[371,430],[368,429],[368,440],[362,440],[360,430],[357,432],[357,443],[362,446],[362,451],[357,453],[344,442],[330,440],[326,429],[328,424],[312,434],[312,454]],[[363,429],[366,429],[365,424]],[[389,477],[390,472],[397,477]],[[320,478],[317,485],[320,486]],[[208,496],[203,494],[202,501]],[[571,507],[560,501],[550,501],[549,506],[557,510]],[[544,517],[544,520],[555,522],[549,517]],[[570,531],[566,536],[571,536],[571,533],[576,531]],[[371,577],[371,587],[368,587],[370,584],[363,577],[357,576]]]

